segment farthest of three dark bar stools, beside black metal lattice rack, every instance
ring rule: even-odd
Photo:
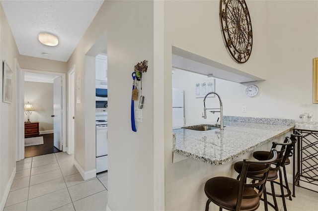
[[[291,153],[289,154],[288,158],[286,158],[285,162],[282,163],[282,167],[283,167],[283,173],[284,173],[284,179],[285,179],[285,185],[284,188],[286,188],[287,190],[287,194],[285,195],[285,197],[289,197],[289,200],[292,201],[292,197],[291,197],[291,190],[289,189],[288,186],[288,181],[287,181],[287,173],[286,173],[286,167],[285,165],[289,165],[291,163],[289,157],[292,157],[293,154],[295,154],[295,144],[297,142],[297,138],[301,137],[302,133],[299,132],[298,130],[294,131],[294,134],[291,134],[290,139],[292,140],[292,149],[291,149]],[[284,143],[286,143],[288,140],[285,138]],[[256,151],[253,153],[253,157],[255,159],[258,160],[265,160],[268,158],[270,152],[268,151]],[[293,158],[293,197],[295,197],[295,158]]]

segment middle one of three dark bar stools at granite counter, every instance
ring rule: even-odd
[[[275,162],[273,164],[275,164],[275,167],[271,167],[269,172],[268,172],[268,177],[267,177],[267,181],[270,181],[270,185],[271,185],[271,191],[272,193],[269,193],[266,191],[264,191],[264,207],[265,207],[265,211],[268,210],[268,205],[270,205],[271,207],[273,207],[276,211],[278,211],[278,206],[277,206],[277,200],[276,197],[282,197],[285,196],[284,195],[284,185],[283,185],[283,180],[282,180],[282,171],[281,171],[281,166],[282,163],[285,163],[286,158],[288,158],[291,149],[292,149],[292,140],[289,137],[286,137],[287,142],[285,143],[277,143],[277,142],[273,142],[273,148],[276,148],[277,146],[281,146],[281,150],[277,152],[278,154],[278,158],[275,160]],[[242,166],[243,163],[242,161],[236,162],[234,164],[234,169],[239,173],[238,178],[241,176],[240,172],[242,171]],[[249,166],[251,169],[257,169],[258,166],[255,165],[250,165]],[[278,178],[279,175],[279,183],[276,182],[275,180]],[[252,179],[253,182],[259,180],[262,178],[262,175],[254,175],[254,176],[248,176],[248,178]],[[275,194],[275,189],[274,189],[274,183],[277,183],[280,185],[280,190],[281,190],[281,195],[277,195]],[[274,205],[267,202],[267,196],[266,195],[272,195],[273,197],[273,201],[274,201]],[[284,206],[284,211],[287,210],[286,208],[286,202],[285,202],[285,197],[282,197],[283,200],[283,206]]]

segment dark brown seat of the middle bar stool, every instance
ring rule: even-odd
[[[248,166],[249,171],[261,171],[262,169],[264,169],[265,165],[258,165],[258,164],[250,164]],[[242,171],[243,168],[243,161],[238,161],[234,164],[234,169],[236,172],[240,173]],[[251,179],[255,179],[255,180],[259,180],[262,179],[263,174],[258,174],[258,175],[253,175],[253,176],[249,176],[249,178]],[[273,181],[275,179],[278,178],[278,174],[277,174],[277,170],[269,170],[268,175],[267,175],[267,181]]]

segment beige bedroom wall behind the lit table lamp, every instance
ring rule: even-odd
[[[39,122],[40,133],[53,131],[53,83],[24,82],[24,103],[30,102],[35,111],[30,115],[31,122]],[[24,114],[24,120],[27,115]]]

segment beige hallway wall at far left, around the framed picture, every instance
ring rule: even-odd
[[[15,175],[16,160],[16,81],[15,61],[19,53],[11,29],[0,4],[0,209],[5,205],[11,182]],[[13,71],[12,103],[2,103],[2,60],[6,60]]]

